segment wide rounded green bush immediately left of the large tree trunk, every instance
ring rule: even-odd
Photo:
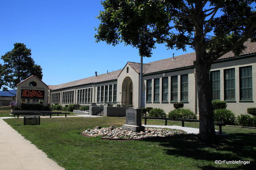
[[[197,115],[193,111],[183,108],[172,110],[169,112],[168,117],[174,121],[176,121],[177,118],[197,119]]]

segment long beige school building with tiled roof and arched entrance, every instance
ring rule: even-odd
[[[212,64],[212,99],[227,101],[235,114],[255,107],[256,43],[247,41],[241,55],[229,52]],[[183,102],[184,108],[198,114],[195,79],[195,52],[166,58],[143,65],[143,107],[174,109],[173,103]],[[50,104],[91,105],[118,102],[122,106],[139,105],[140,63],[127,62],[123,69],[59,84],[50,91]]]

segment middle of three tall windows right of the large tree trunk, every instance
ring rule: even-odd
[[[224,70],[225,100],[235,100],[235,69]]]

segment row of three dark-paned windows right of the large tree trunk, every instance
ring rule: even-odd
[[[220,100],[220,70],[211,74],[212,99]],[[240,100],[253,99],[252,66],[239,68]],[[235,100],[235,68],[224,69],[224,100]]]

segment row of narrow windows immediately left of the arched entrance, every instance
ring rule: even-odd
[[[97,103],[107,103],[112,101],[116,102],[116,97],[117,97],[116,84],[97,87]]]

